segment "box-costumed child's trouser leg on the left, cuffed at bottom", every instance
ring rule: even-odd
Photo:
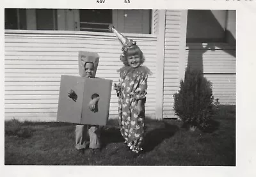
[[[76,125],[76,149],[85,149],[88,144],[87,125]]]

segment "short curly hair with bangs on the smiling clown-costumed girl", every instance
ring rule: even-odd
[[[129,66],[127,57],[134,56],[134,55],[139,55],[140,56],[141,65],[142,65],[145,61],[145,57],[144,57],[143,52],[140,50],[140,47],[138,47],[138,45],[132,45],[131,47],[129,47],[123,53],[123,55],[120,56],[120,60],[124,63],[125,66]]]

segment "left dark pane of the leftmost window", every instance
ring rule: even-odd
[[[4,9],[4,29],[18,29],[17,9]]]

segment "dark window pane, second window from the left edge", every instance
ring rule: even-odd
[[[36,29],[54,30],[54,15],[52,9],[36,9]]]

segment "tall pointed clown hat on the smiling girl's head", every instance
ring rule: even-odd
[[[132,47],[132,45],[136,45],[136,42],[134,42],[133,40],[129,40],[128,38],[126,38],[124,35],[122,35],[121,33],[119,33],[115,27],[113,26],[109,26],[109,31],[115,33],[116,37],[118,38],[119,42],[122,45],[122,52],[123,55],[125,54],[125,52],[127,52],[127,50]]]

